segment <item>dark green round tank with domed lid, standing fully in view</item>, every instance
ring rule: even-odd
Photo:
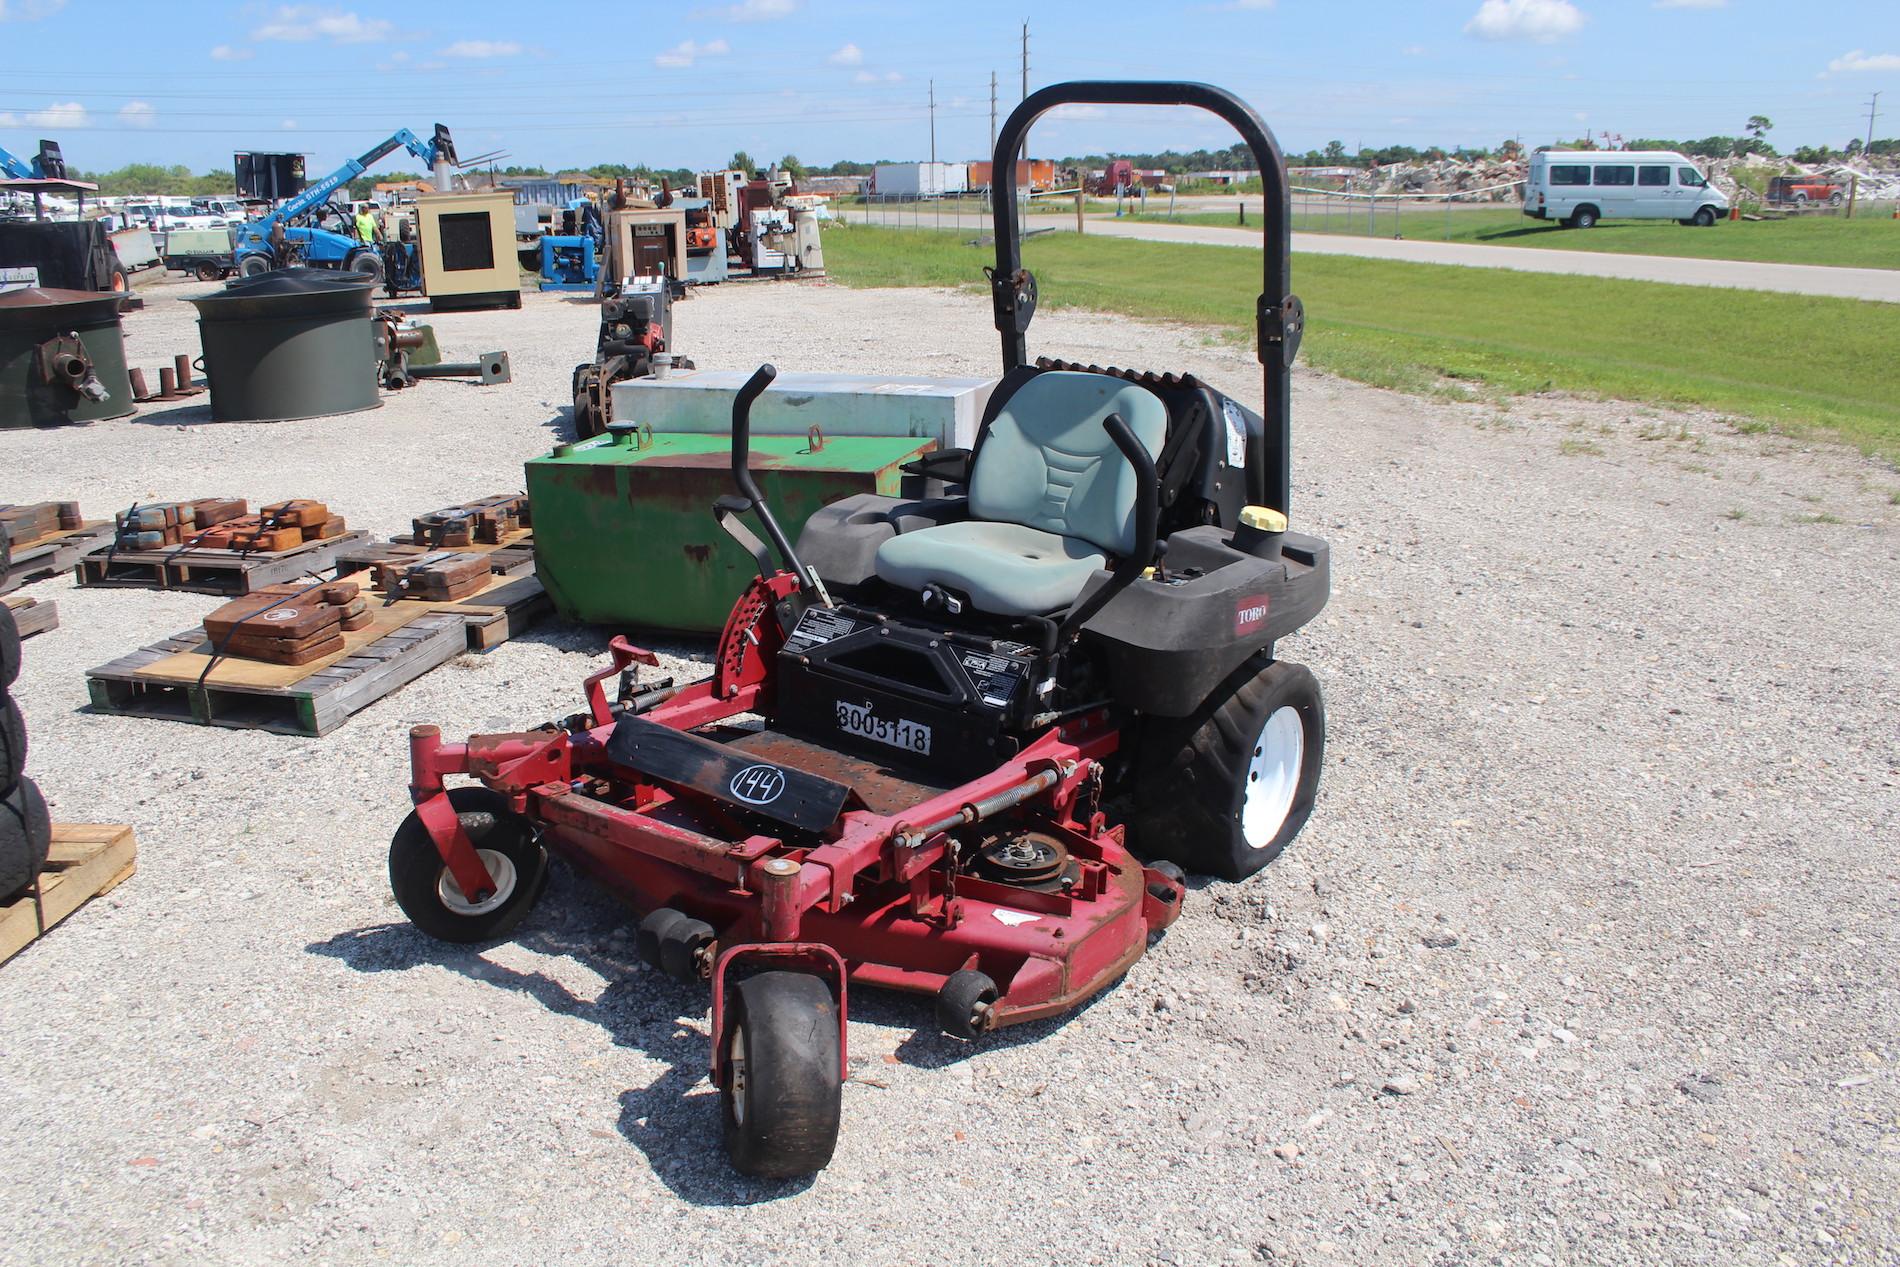
[[[361,274],[279,268],[194,298],[217,422],[291,422],[382,405]]]

